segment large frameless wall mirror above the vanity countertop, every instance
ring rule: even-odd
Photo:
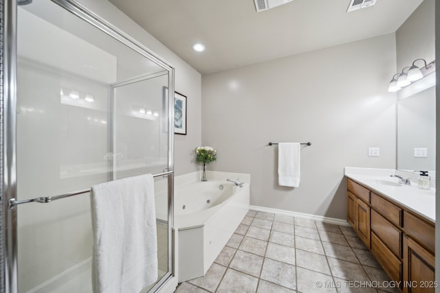
[[[416,87],[423,80],[413,85]],[[434,176],[435,136],[435,86],[399,99],[397,169],[406,172],[426,170]]]

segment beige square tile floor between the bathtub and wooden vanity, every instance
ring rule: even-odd
[[[175,292],[399,292],[351,227],[249,211],[205,276]]]

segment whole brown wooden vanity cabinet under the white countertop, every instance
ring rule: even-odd
[[[403,292],[434,292],[434,223],[347,180],[347,221]]]

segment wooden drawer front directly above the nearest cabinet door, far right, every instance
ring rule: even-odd
[[[406,235],[434,254],[435,228],[433,223],[421,220],[412,213],[404,211],[404,229]]]

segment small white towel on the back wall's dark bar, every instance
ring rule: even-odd
[[[278,184],[300,186],[300,143],[278,143]]]

